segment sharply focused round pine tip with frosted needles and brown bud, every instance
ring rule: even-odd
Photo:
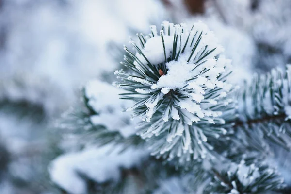
[[[122,99],[135,101],[127,109],[143,121],[138,134],[150,141],[152,154],[180,161],[212,157],[208,139],[218,140],[227,133],[226,123],[234,119],[235,106],[226,82],[230,60],[223,55],[212,31],[201,22],[191,30],[185,24],[164,21],[160,34],[137,35],[134,51],[124,49],[129,70],[115,71],[116,87],[128,92]],[[135,53],[136,52],[136,53]]]

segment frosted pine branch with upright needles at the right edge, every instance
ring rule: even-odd
[[[255,75],[251,85],[245,83],[238,94],[240,104],[239,120],[234,124],[236,131],[257,133],[258,141],[266,141],[264,146],[271,141],[290,150],[290,73],[287,65],[285,73],[273,70],[265,75]]]

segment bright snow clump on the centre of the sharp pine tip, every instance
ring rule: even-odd
[[[224,56],[221,56],[221,58],[219,58],[218,60],[210,58],[197,67],[196,64],[187,63],[186,57],[183,56],[185,55],[181,54],[178,61],[170,61],[169,63],[166,63],[166,66],[168,68],[167,74],[161,76],[157,84],[154,84],[153,86],[151,86],[151,88],[162,88],[162,93],[166,93],[165,91],[168,91],[170,89],[176,90],[182,89],[183,87],[185,87],[186,89],[192,89],[192,92],[187,92],[187,95],[189,95],[189,99],[180,100],[180,102],[177,103],[178,106],[181,109],[185,109],[190,113],[197,114],[200,118],[203,118],[206,114],[207,116],[215,116],[215,112],[207,112],[206,110],[203,110],[203,106],[200,106],[199,103],[204,100],[206,90],[214,89],[215,87],[223,88],[217,98],[226,97],[226,92],[228,92],[232,88],[232,86],[231,84],[227,84],[217,80],[217,76],[225,72],[224,66],[226,64],[229,65],[230,61],[226,60]],[[200,72],[203,71],[203,69],[205,68],[210,69],[210,71],[201,74]],[[198,74],[201,75],[196,76]],[[194,79],[193,81],[188,81],[194,76],[196,76],[196,79]],[[190,99],[196,103],[192,102]],[[210,100],[210,104],[215,103],[214,99]],[[173,114],[176,115],[174,116],[175,119],[179,119],[177,114]]]

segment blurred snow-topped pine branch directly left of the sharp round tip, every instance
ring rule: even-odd
[[[143,146],[145,141],[134,133],[136,122],[123,112],[127,104],[118,99],[117,92],[110,84],[91,81],[82,89],[81,102],[64,113],[58,127],[65,136],[74,135],[81,148],[88,143],[115,144],[123,150]]]

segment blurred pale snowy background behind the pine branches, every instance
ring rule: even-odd
[[[232,60],[232,84],[291,63],[291,0],[0,0],[0,194],[85,194],[123,176],[110,148],[83,149],[90,137],[74,137],[63,128],[78,122],[62,119],[90,80],[115,80],[129,36],[164,20],[207,24]],[[274,149],[291,188],[291,153]],[[176,184],[153,192],[183,193]]]

